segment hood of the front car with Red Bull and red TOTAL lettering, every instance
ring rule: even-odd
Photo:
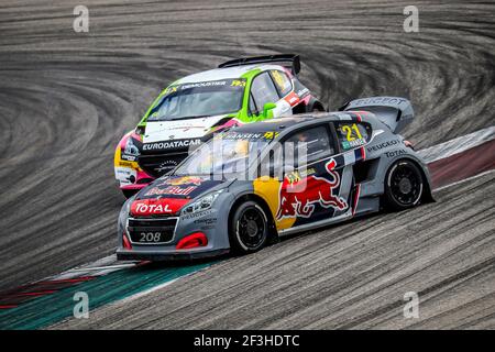
[[[209,176],[167,176],[143,188],[131,205],[131,215],[148,217],[174,215],[191,199],[206,194],[224,180]]]

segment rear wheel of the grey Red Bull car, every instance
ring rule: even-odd
[[[419,204],[425,191],[418,166],[407,160],[395,162],[385,176],[385,208],[400,211]]]

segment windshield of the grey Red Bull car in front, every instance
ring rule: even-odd
[[[174,175],[221,175],[245,173],[258,161],[260,152],[273,139],[266,133],[227,132],[202,144],[174,172]]]

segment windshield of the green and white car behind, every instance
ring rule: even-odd
[[[242,108],[245,79],[170,86],[150,111],[147,121],[173,121],[235,113]]]

